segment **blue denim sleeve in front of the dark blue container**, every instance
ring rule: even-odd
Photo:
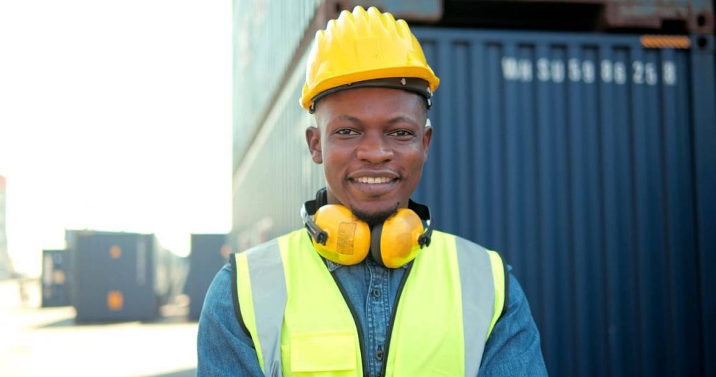
[[[520,283],[510,273],[509,305],[487,343],[479,377],[547,376],[539,331]]]

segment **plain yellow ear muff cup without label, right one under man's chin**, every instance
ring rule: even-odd
[[[399,208],[385,220],[380,232],[380,256],[385,267],[399,268],[415,259],[420,251],[417,239],[424,231],[420,217],[407,208]]]

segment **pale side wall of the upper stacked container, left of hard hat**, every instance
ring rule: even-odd
[[[233,1],[234,169],[322,2]]]

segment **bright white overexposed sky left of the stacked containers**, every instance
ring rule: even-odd
[[[0,175],[17,270],[64,229],[231,229],[231,1],[0,0]]]

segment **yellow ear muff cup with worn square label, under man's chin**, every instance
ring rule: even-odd
[[[342,205],[324,205],[316,211],[314,222],[328,234],[326,245],[311,242],[320,255],[342,265],[361,263],[370,248],[370,228]]]

